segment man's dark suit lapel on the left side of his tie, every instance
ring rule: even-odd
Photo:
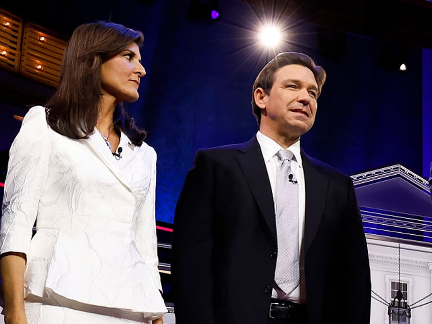
[[[239,150],[244,152],[244,154],[237,155],[237,161],[264,220],[276,241],[275,207],[272,188],[268,180],[261,148],[254,137],[249,142],[240,146]]]

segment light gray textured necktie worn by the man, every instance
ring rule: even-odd
[[[299,184],[291,170],[291,151],[281,149],[276,171],[276,232],[278,254],[275,282],[285,293],[300,283]]]

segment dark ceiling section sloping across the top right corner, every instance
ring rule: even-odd
[[[243,1],[336,32],[432,48],[432,0]]]

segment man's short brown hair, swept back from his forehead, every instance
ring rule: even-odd
[[[257,119],[258,125],[261,123],[261,109],[255,103],[254,92],[257,88],[262,88],[269,95],[270,90],[275,82],[275,74],[279,69],[286,65],[298,64],[307,67],[312,71],[318,85],[318,96],[321,94],[322,85],[326,82],[326,71],[319,65],[316,65],[312,58],[300,52],[282,52],[274,59],[269,61],[258,73],[252,87],[252,111]]]

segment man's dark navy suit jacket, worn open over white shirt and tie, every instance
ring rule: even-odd
[[[302,151],[309,323],[369,323],[371,283],[353,182]],[[258,141],[199,150],[174,218],[176,323],[265,324],[276,268],[273,195]]]

